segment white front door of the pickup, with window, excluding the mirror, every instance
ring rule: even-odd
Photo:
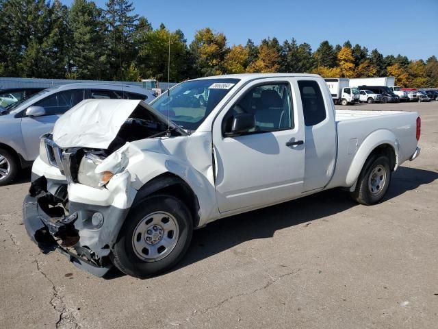
[[[257,208],[302,193],[305,131],[293,78],[244,86],[213,125],[216,198],[220,212]],[[255,130],[229,137],[236,114],[255,116]]]

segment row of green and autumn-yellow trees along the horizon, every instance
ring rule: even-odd
[[[128,0],[0,0],[0,76],[84,80],[170,80],[224,73],[318,73],[323,77],[394,76],[398,86],[437,87],[438,60],[383,56],[350,41],[306,43],[266,38],[229,47],[224,34],[199,29],[188,44],[181,29],[154,29]]]

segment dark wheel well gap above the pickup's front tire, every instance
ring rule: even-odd
[[[199,202],[192,188],[179,176],[172,173],[163,173],[140,188],[133,201],[133,206],[140,203],[146,197],[157,194],[172,195],[180,199],[188,206],[192,219],[193,227],[196,228],[199,223]]]

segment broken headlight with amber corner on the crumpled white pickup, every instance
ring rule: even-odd
[[[103,158],[94,154],[87,153],[83,156],[79,171],[77,173],[77,181],[81,184],[94,188],[101,188],[107,182],[110,182],[115,173],[111,171],[96,172],[96,168],[103,162]]]

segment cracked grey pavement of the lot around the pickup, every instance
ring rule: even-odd
[[[350,108],[350,107],[342,107]],[[338,190],[211,223],[163,276],[111,279],[40,254],[21,223],[29,171],[0,187],[2,328],[437,328],[438,102],[385,202]]]

